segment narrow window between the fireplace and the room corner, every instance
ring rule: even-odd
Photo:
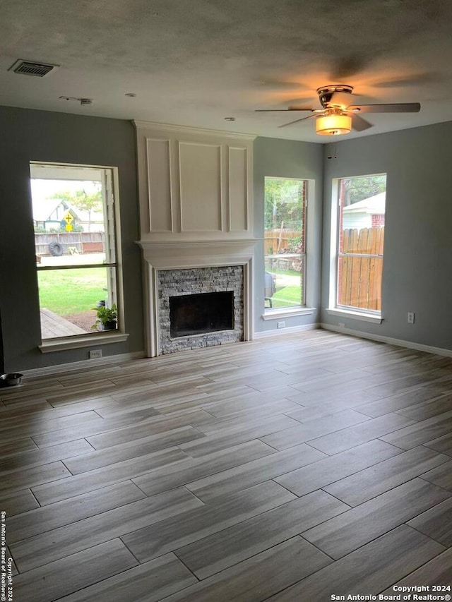
[[[265,179],[265,305],[305,304],[307,181]]]

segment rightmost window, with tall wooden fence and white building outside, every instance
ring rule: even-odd
[[[386,174],[338,181],[336,302],[381,313]]]

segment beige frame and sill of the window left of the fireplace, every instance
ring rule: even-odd
[[[46,272],[52,270],[75,270],[75,269],[93,269],[95,267],[105,267],[106,270],[109,268],[114,270],[114,300],[112,302],[117,304],[118,308],[118,321],[117,330],[105,330],[98,332],[86,332],[80,335],[69,335],[65,337],[54,337],[42,339],[41,344],[38,348],[42,353],[49,353],[52,351],[61,351],[64,349],[78,349],[81,347],[91,347],[93,344],[107,344],[115,342],[125,341],[129,335],[125,330],[124,321],[124,289],[122,284],[122,262],[121,262],[121,225],[119,215],[119,181],[118,181],[118,169],[113,166],[106,165],[91,165],[91,164],[73,164],[73,163],[55,163],[47,161],[30,161],[30,169],[32,166],[44,166],[44,167],[55,167],[55,168],[66,168],[66,169],[91,169],[100,170],[104,172],[105,181],[102,184],[102,191],[105,191],[106,195],[103,196],[103,210],[104,210],[104,222],[105,222],[105,239],[109,239],[111,231],[114,233],[114,246],[109,247],[105,245],[105,263],[77,263],[73,265],[57,265],[57,266],[42,266],[36,265],[36,275],[39,272]],[[109,174],[107,176],[107,174]],[[32,179],[30,171],[30,183]],[[54,178],[57,179],[57,178]],[[64,178],[61,178],[64,179]],[[51,178],[49,178],[51,180]],[[72,180],[73,179],[69,179]],[[87,178],[87,181],[89,178]],[[111,221],[113,219],[113,224]],[[107,258],[109,259],[107,261]],[[112,260],[113,259],[113,260]],[[110,291],[109,291],[110,293]]]

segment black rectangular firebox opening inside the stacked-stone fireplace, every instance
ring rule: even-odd
[[[169,297],[171,337],[234,330],[234,291]]]

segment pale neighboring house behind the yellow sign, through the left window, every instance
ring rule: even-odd
[[[35,227],[44,228],[46,231],[64,227],[65,216],[70,213],[73,217],[72,225],[78,225],[84,232],[103,232],[105,230],[104,217],[102,212],[76,209],[66,200],[58,198],[39,198],[33,195],[33,224]]]

